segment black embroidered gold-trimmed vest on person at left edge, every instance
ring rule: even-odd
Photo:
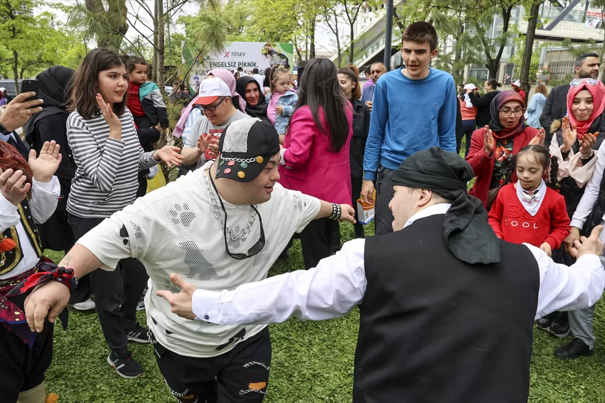
[[[25,228],[25,233],[34,247],[34,251],[38,257],[42,257],[42,241],[40,239],[38,227],[31,217],[30,205],[25,198],[18,206],[21,224]],[[7,228],[4,233],[0,234],[0,274],[6,274],[14,269],[23,259],[21,242],[27,242],[26,239],[19,239],[17,228]]]

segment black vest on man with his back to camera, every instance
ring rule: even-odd
[[[365,240],[353,403],[526,403],[540,271],[525,245],[471,265],[443,214]]]

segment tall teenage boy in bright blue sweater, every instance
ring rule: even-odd
[[[365,144],[361,195],[373,202],[375,186],[376,235],[393,231],[388,205],[399,164],[432,146],[456,152],[456,84],[451,74],[429,67],[437,56],[437,32],[428,22],[414,22],[402,39],[405,68],[376,83]]]

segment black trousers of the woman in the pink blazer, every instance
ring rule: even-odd
[[[299,234],[306,269],[317,266],[319,260],[330,256],[335,225],[338,225],[338,221],[320,218],[307,224]]]

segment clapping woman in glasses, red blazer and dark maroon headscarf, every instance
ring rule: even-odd
[[[525,100],[518,92],[500,92],[489,108],[492,120],[489,126],[473,132],[466,156],[476,176],[468,193],[482,201],[487,210],[495,199],[495,194],[489,197],[490,190],[497,189],[511,173],[512,182],[517,181],[514,169],[509,167],[511,156],[528,144],[542,144],[545,138],[544,129],[538,131],[525,124]]]

